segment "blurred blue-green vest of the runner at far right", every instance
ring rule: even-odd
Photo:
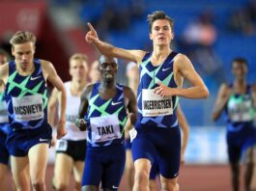
[[[230,85],[230,88],[232,87],[233,85]],[[225,113],[229,131],[238,131],[243,126],[252,125],[255,110],[249,85],[245,94],[233,94],[229,97]]]

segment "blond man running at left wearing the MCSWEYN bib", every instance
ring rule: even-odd
[[[57,138],[66,134],[66,93],[53,65],[34,58],[36,37],[30,32],[18,31],[12,37],[14,61],[0,67],[0,80],[6,85],[9,129],[7,148],[16,190],[30,190],[25,169],[29,166],[33,190],[45,190],[45,170],[51,127],[47,123],[46,80],[61,94],[61,117]]]

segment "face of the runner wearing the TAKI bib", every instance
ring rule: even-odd
[[[117,69],[117,63],[114,59],[105,58],[104,62],[99,65],[102,80],[113,81],[116,77]]]

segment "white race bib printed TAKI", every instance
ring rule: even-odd
[[[120,123],[116,115],[91,118],[92,142],[100,143],[120,139]]]

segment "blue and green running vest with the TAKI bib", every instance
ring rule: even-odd
[[[124,87],[116,85],[116,95],[103,100],[99,95],[100,83],[94,84],[89,100],[87,121],[87,146],[104,147],[124,144],[124,127],[127,123],[127,108]]]

